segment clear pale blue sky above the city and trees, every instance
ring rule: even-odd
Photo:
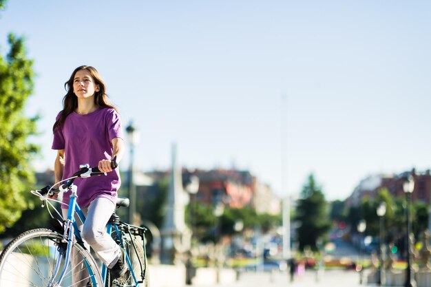
[[[38,169],[85,64],[140,129],[140,169],[168,168],[176,142],[185,167],[249,169],[280,195],[313,172],[344,200],[369,174],[431,168],[430,14],[430,1],[10,0],[0,45],[25,36],[39,75]]]

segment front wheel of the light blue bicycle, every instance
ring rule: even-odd
[[[63,235],[47,228],[38,228],[21,233],[15,237],[0,255],[0,286],[52,286],[49,279],[56,265],[56,260],[62,256],[61,268],[54,278],[54,286],[63,270],[65,243],[61,243]],[[81,255],[81,267],[86,274],[85,281],[76,282],[74,286],[102,287],[101,273],[94,257],[77,242],[73,243],[72,252]],[[76,274],[77,266],[69,264],[61,286],[72,286],[72,271]],[[88,284],[90,283],[90,284]],[[86,285],[87,284],[87,285]]]

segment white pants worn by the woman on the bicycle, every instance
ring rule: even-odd
[[[95,198],[87,208],[81,208],[81,210],[85,215],[85,224],[81,222],[77,214],[75,214],[75,220],[81,231],[85,247],[90,251],[91,246],[103,264],[112,268],[121,255],[120,246],[105,231],[106,224],[115,210],[114,203],[107,198]],[[67,218],[67,209],[63,209],[62,212],[63,217]],[[72,268],[79,262],[82,262],[82,259],[72,253]],[[80,264],[80,266],[85,268],[85,264]],[[81,272],[82,269],[78,270],[78,266],[75,268],[76,272],[72,275],[74,286],[85,286],[87,281],[84,278],[87,277],[87,273]]]

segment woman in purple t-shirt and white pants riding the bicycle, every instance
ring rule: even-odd
[[[55,182],[70,178],[80,164],[98,166],[107,176],[76,178],[77,202],[83,210],[85,224],[78,226],[83,240],[90,244],[113,277],[124,272],[123,254],[105,226],[115,209],[120,173],[112,170],[111,160],[120,162],[124,153],[123,129],[118,112],[107,102],[105,83],[91,66],[77,67],[65,83],[67,94],[63,110],[54,123],[52,149],[57,150],[54,162]],[[67,193],[63,203],[69,202]],[[67,206],[63,204],[63,216]],[[81,223],[77,220],[77,223]],[[72,259],[72,263],[78,259]],[[81,281],[74,276],[73,281]],[[85,275],[82,275],[85,276]]]

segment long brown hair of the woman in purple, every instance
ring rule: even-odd
[[[109,104],[108,96],[105,93],[105,83],[103,82],[101,76],[98,74],[97,70],[92,66],[82,65],[77,67],[74,72],[72,72],[72,75],[70,76],[69,80],[64,83],[64,87],[67,91],[67,94],[63,98],[63,110],[60,113],[59,119],[56,120],[54,123],[54,126],[52,127],[52,131],[55,131],[57,127],[61,127],[66,120],[67,116],[69,116],[77,107],[78,107],[78,98],[74,94],[73,91],[73,82],[75,78],[76,72],[79,70],[87,70],[90,75],[92,76],[94,82],[96,85],[99,86],[98,92],[94,93],[94,104],[96,104],[97,107],[108,107],[112,109],[116,109],[114,106]]]

